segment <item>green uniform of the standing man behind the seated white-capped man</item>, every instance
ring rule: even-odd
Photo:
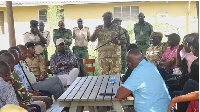
[[[59,38],[68,39],[65,41],[65,49],[70,50],[70,45],[72,44],[72,32],[70,29],[65,29],[60,31],[59,29],[53,30],[53,42],[56,45],[56,40]]]

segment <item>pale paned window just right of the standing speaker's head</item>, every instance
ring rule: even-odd
[[[120,18],[123,21],[135,20],[139,13],[138,6],[114,7],[114,18]]]

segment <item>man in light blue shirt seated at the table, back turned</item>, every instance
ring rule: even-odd
[[[126,61],[133,71],[118,89],[116,98],[125,99],[132,92],[136,112],[166,112],[171,98],[157,68],[137,49],[127,53]]]

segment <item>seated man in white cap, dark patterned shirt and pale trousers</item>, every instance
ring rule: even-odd
[[[50,59],[51,72],[60,78],[63,86],[71,85],[78,77],[79,70],[75,68],[77,58],[70,50],[65,50],[65,41],[56,40],[57,52]]]

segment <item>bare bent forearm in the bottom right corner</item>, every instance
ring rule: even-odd
[[[167,112],[171,112],[171,108],[176,104],[180,102],[188,102],[188,101],[194,101],[194,100],[199,100],[199,91],[191,92],[186,95],[181,95],[178,97],[174,97],[169,106]]]

